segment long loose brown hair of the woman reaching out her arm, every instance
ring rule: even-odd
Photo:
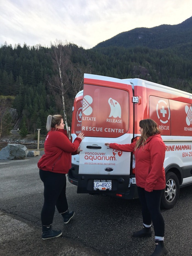
[[[153,119],[143,119],[139,122],[139,127],[143,128],[142,136],[137,140],[135,144],[135,150],[139,147],[144,147],[148,137],[160,133],[157,128],[157,123]]]

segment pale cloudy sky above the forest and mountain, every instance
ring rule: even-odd
[[[176,25],[192,16],[191,0],[0,0],[0,46],[90,49],[138,27]]]

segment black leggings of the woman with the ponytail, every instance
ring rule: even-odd
[[[41,211],[41,223],[49,226],[53,222],[55,206],[59,213],[68,210],[66,199],[66,175],[39,169],[39,176],[44,184],[44,204]]]

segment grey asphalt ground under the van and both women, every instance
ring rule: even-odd
[[[53,227],[62,237],[41,239],[43,184],[39,156],[0,161],[0,255],[148,256],[152,238],[134,238],[142,226],[139,200],[77,194],[67,182],[69,208],[74,218],[66,225],[55,211]],[[177,205],[162,210],[167,256],[192,256],[192,186],[180,190]],[[154,232],[153,232],[154,233]]]

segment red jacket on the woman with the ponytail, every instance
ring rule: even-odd
[[[66,130],[49,131],[44,144],[45,154],[39,160],[38,168],[55,173],[68,173],[71,168],[71,154],[77,154],[80,143],[80,138],[71,143]]]

